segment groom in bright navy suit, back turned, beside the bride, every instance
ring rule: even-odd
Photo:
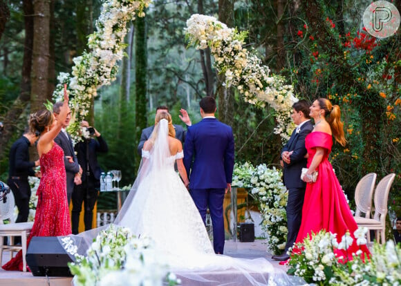
[[[234,136],[232,128],[216,120],[216,100],[203,97],[201,122],[188,127],[184,146],[184,165],[189,175],[189,193],[206,223],[209,207],[216,254],[223,254],[223,200],[231,191],[234,169]]]

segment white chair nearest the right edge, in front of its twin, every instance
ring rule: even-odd
[[[387,209],[387,200],[389,200],[389,192],[394,178],[395,173],[391,173],[382,178],[377,184],[375,189],[375,215],[373,218],[355,217],[358,227],[374,230],[376,241],[381,244],[386,242],[386,215],[389,211]]]

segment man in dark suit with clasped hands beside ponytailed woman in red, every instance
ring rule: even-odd
[[[305,137],[313,130],[310,122],[309,104],[306,100],[299,100],[292,105],[292,120],[297,128],[292,132],[290,140],[281,150],[281,158],[284,166],[284,184],[288,189],[287,201],[287,227],[288,236],[284,253],[272,256],[274,260],[284,261],[290,258],[287,251],[297,239],[299,227],[301,226],[302,206],[306,183],[301,180],[301,170],[306,168]]]

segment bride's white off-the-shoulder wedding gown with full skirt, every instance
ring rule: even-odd
[[[142,151],[145,160],[149,155],[149,151]],[[174,171],[174,162],[183,157],[183,151],[171,155],[164,168],[147,174],[118,225],[128,227],[136,236],[149,236],[171,267],[203,268],[207,259],[193,257],[214,255],[214,251],[201,215]]]

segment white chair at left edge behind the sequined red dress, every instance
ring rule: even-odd
[[[4,184],[3,182],[1,183]],[[6,188],[8,188],[6,184],[4,185]],[[3,220],[12,218],[14,207],[15,199],[14,195],[10,191],[10,193],[6,194],[6,201],[0,200],[0,265],[3,265],[1,261],[3,257],[3,251],[10,251],[12,257],[15,251],[22,249],[23,271],[26,271],[26,240],[32,229],[33,222],[11,222],[4,225]],[[4,245],[3,239],[7,236],[9,237],[8,245]],[[21,245],[14,245],[15,236],[21,236]]]

